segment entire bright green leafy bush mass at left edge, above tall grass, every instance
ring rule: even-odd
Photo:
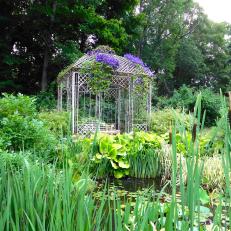
[[[37,119],[35,99],[22,94],[4,94],[0,99],[0,147],[5,150],[36,150],[49,155],[55,149],[55,137]]]

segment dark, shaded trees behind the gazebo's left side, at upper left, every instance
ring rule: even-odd
[[[98,44],[122,52],[127,33],[121,15],[132,7],[120,2],[121,8],[106,0],[1,1],[2,90],[45,90],[64,65]],[[102,6],[111,9],[107,17]]]

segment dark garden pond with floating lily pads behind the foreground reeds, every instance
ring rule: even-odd
[[[177,204],[177,214],[178,214],[178,224],[177,227],[181,230],[181,217],[189,216],[189,210],[182,211],[181,207],[181,194],[180,189],[176,193],[176,204]],[[164,216],[160,217],[160,223],[164,225],[166,221],[165,214],[170,208],[172,194],[170,182],[166,183],[165,186],[161,184],[161,179],[138,179],[138,178],[107,178],[97,181],[97,187],[94,193],[94,197],[102,198],[102,195],[106,195],[111,204],[116,200],[120,200],[121,209],[126,208],[126,203],[129,201],[131,207],[135,209],[137,206],[137,200],[142,201],[143,205],[152,203],[156,204],[157,207],[162,211]],[[195,208],[195,216],[199,219],[195,219],[193,230],[212,230],[214,227],[214,218],[218,210],[223,211],[221,214],[225,214],[227,211],[227,206],[225,202],[222,202],[222,207],[218,208],[218,204],[221,202],[221,197],[219,194],[211,193],[207,194],[205,190],[200,189],[200,207]],[[141,203],[141,204],[142,204]],[[113,207],[113,205],[112,205]],[[224,230],[229,230],[229,218],[228,216],[221,215],[221,223]],[[198,226],[197,220],[199,220],[200,225]],[[200,228],[197,228],[200,227]],[[203,227],[203,229],[201,229]],[[223,230],[223,229],[222,229]]]

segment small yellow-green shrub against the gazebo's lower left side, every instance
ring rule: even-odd
[[[38,118],[56,136],[63,137],[69,131],[69,113],[59,111],[40,112]]]

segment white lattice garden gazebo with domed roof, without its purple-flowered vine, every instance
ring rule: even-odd
[[[95,94],[88,84],[88,78],[92,78],[91,71],[82,73],[81,69],[86,62],[94,62],[99,53],[118,60],[119,65],[113,71],[110,87]],[[134,129],[146,131],[152,108],[150,73],[143,63],[134,63],[126,55],[118,56],[108,47],[98,47],[59,75],[58,110],[71,112],[74,134],[88,135],[97,129],[107,133],[131,132]],[[142,78],[135,79],[134,76],[148,80],[145,92],[135,91]]]

